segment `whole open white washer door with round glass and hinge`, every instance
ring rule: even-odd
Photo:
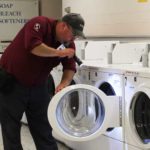
[[[118,96],[106,96],[98,88],[76,84],[58,92],[48,107],[48,119],[60,137],[68,141],[89,141],[120,126]],[[74,101],[78,101],[76,105]]]

